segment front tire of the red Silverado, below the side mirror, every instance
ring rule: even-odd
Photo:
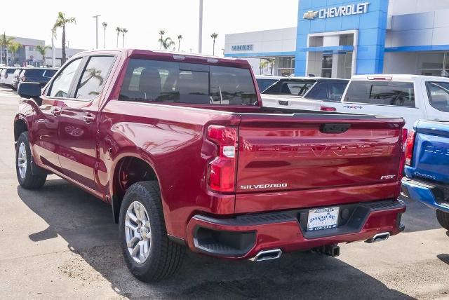
[[[24,153],[25,150],[25,153]],[[26,160],[24,161],[24,158]],[[20,159],[20,161],[19,161]],[[25,170],[19,167],[19,163],[25,166]],[[23,165],[25,163],[25,165]],[[28,132],[20,134],[17,144],[15,146],[15,172],[17,179],[24,189],[40,189],[47,180],[47,175],[33,175],[31,170],[32,155],[29,148]]]

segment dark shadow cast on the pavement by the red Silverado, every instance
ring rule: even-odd
[[[48,223],[48,229],[29,236],[34,242],[61,236],[81,256],[61,261],[61,273],[89,278],[80,266],[86,261],[108,280],[112,289],[130,298],[158,299],[411,299],[339,259],[301,252],[279,260],[253,263],[220,261],[189,252],[175,277],[145,284],[128,272],[112,223],[109,205],[62,179],[48,180],[43,189],[18,195]],[[447,255],[447,254],[442,254]],[[443,257],[446,259],[447,257]],[[78,259],[78,261],[76,261]],[[77,269],[78,268],[78,269]],[[89,282],[86,281],[86,284]]]

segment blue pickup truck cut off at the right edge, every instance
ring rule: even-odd
[[[436,210],[449,230],[449,121],[417,121],[408,132],[402,195]]]

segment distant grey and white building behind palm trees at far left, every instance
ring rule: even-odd
[[[32,65],[34,67],[41,67],[42,55],[36,50],[37,45],[44,45],[45,41],[41,39],[29,39],[22,38],[19,36],[13,36],[14,41],[21,43],[22,48],[18,50],[15,55],[8,51],[6,53],[6,49],[1,49],[1,63],[7,64],[8,66],[13,66],[14,64],[20,64],[21,66]],[[67,59],[72,57],[76,53],[83,51],[84,49],[73,49],[73,48],[65,48]],[[55,64],[56,67],[60,67],[62,60],[62,49],[55,48]],[[51,49],[47,50],[45,55],[45,64],[46,66],[51,66]]]

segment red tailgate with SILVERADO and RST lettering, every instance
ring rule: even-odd
[[[248,207],[242,202],[245,199],[262,200],[276,194],[279,197],[271,197],[269,204],[263,204],[264,210],[377,200],[368,192],[373,186],[384,189],[379,199],[394,195],[402,155],[402,127],[401,118],[243,115],[239,126],[236,212],[262,207],[257,200]],[[309,198],[302,198],[304,191]],[[326,199],[319,199],[321,193],[311,191],[326,192]],[[293,195],[299,198],[289,198]]]

